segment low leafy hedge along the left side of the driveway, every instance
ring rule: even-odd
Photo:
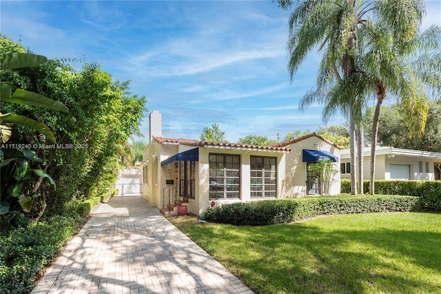
[[[108,197],[107,197],[108,198]],[[39,272],[57,258],[62,247],[85,222],[102,197],[71,201],[59,211],[27,227],[0,235],[0,293],[30,293]]]

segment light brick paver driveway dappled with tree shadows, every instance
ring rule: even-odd
[[[32,293],[253,293],[143,198],[113,197]]]

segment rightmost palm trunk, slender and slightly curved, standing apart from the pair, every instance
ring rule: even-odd
[[[380,113],[381,113],[381,105],[383,103],[384,98],[386,97],[386,87],[379,81],[377,83],[377,105],[375,107],[375,112],[373,113],[373,121],[372,121],[372,142],[371,142],[371,177],[369,183],[369,194],[375,194],[375,156],[376,156],[376,147],[377,147],[377,139],[378,139],[378,124],[380,123]]]

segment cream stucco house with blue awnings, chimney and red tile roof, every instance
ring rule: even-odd
[[[162,137],[161,114],[150,114],[150,143],[143,152],[143,198],[167,212],[185,199],[200,215],[215,204],[296,198],[320,193],[308,171],[318,160],[338,162],[340,149],[317,134],[269,146]],[[340,193],[338,163],[329,194]]]

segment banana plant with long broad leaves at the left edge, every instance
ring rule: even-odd
[[[29,52],[4,52],[0,55],[0,74],[12,72],[23,67],[39,65],[47,61],[45,56],[32,54]],[[36,94],[34,92],[17,89],[12,94],[13,85],[11,82],[0,82],[0,101],[7,103],[15,103],[18,105],[37,106],[48,109],[54,109],[61,112],[68,112],[68,108],[50,98]],[[11,127],[4,123],[13,123],[23,127],[30,127],[43,134],[50,142],[55,143],[55,136],[45,123],[39,123],[37,120],[21,116],[17,114],[1,114],[0,113],[0,137],[3,143],[6,143],[12,136]],[[37,193],[44,179],[48,179],[50,184],[55,186],[54,180],[46,173],[46,167],[42,169],[40,163],[41,158],[28,150],[17,148],[17,150],[3,151],[0,149],[1,161],[1,207],[0,215],[12,213],[17,215],[14,204],[20,204],[21,209],[29,212],[32,209],[34,198],[39,196]],[[31,162],[38,162],[39,167],[32,169]],[[44,165],[44,162],[43,162]],[[37,180],[34,180],[38,176]],[[41,217],[41,214],[37,220]]]

